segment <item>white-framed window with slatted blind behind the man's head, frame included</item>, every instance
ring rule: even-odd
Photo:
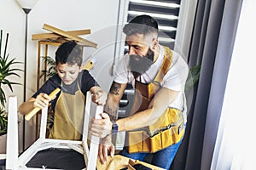
[[[123,26],[139,14],[150,14],[159,22],[160,44],[174,49],[188,59],[197,0],[120,0],[115,62],[124,54]],[[127,49],[127,48],[126,48]]]

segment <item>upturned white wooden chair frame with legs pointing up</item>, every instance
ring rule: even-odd
[[[84,155],[85,168],[87,170],[96,169],[96,159],[98,153],[99,138],[90,137],[90,147],[88,147],[88,125],[90,119],[90,103],[91,94],[87,93],[86,104],[84,110],[84,129],[83,139],[81,141],[62,140],[62,139],[46,139],[46,124],[48,107],[45,107],[41,116],[41,127],[39,138],[27,148],[20,156],[18,149],[18,118],[17,118],[17,98],[16,96],[9,97],[9,117],[8,117],[8,134],[7,134],[7,149],[6,149],[6,169],[44,169],[35,167],[26,167],[28,161],[35,156],[40,150],[49,148],[56,149],[73,149]],[[96,118],[100,118],[102,106],[96,106]],[[90,148],[90,150],[89,150]]]

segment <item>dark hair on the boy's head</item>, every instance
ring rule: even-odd
[[[82,65],[83,61],[83,48],[75,41],[63,42],[55,52],[56,65],[68,64]]]

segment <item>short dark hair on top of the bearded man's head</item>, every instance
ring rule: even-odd
[[[123,28],[126,36],[135,34],[148,35],[150,33],[158,33],[158,23],[154,18],[147,14],[139,15],[132,19]]]

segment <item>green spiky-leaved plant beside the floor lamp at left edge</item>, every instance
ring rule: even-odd
[[[2,52],[2,45],[3,45],[2,43],[3,30],[1,30],[1,35],[0,35],[0,137],[2,137],[7,133],[7,124],[8,124],[8,112],[6,111],[7,96],[5,94],[3,87],[6,86],[9,88],[11,92],[13,92],[12,86],[20,83],[10,81],[9,77],[20,77],[17,74],[17,71],[22,71],[17,68],[11,68],[11,66],[20,64],[20,62],[16,62],[15,59],[9,59],[9,54],[6,54],[8,37],[9,37],[9,34],[7,33],[4,53],[2,54],[1,52]],[[1,144],[1,148],[5,149],[4,142],[0,142],[0,144]],[[1,153],[1,150],[0,150],[0,153]]]

